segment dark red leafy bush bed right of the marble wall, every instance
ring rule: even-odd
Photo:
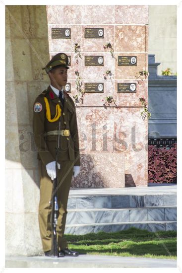
[[[148,182],[177,183],[177,144],[170,149],[148,145]]]

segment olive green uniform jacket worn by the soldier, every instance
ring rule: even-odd
[[[60,148],[58,153],[58,162],[61,160],[74,160],[74,166],[80,166],[78,129],[76,120],[75,105],[71,97],[63,91],[64,106],[61,100],[52,90],[49,85],[47,90],[44,90],[34,102],[33,111],[33,133],[36,147],[38,148],[38,157],[46,165],[51,161],[56,160],[56,147],[58,135],[45,136],[45,132],[59,130],[59,120],[61,119],[61,130],[67,129],[70,131],[70,136],[60,136]],[[56,115],[56,105],[61,106],[61,118],[56,122],[49,122],[46,117],[46,104],[44,96],[47,97],[51,119]],[[35,105],[38,109],[35,110]]]

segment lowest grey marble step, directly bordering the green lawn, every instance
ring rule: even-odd
[[[177,230],[176,221],[143,221],[143,222],[117,222],[117,223],[90,223],[90,224],[66,224],[64,234],[84,235],[87,233],[117,232],[130,227],[145,229],[148,231]]]

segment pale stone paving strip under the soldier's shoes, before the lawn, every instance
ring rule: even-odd
[[[83,254],[78,257],[6,257],[5,268],[176,268],[177,261]]]

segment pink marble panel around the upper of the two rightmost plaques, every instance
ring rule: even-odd
[[[146,67],[146,54],[145,53],[116,53],[118,56],[137,56],[137,66],[118,66],[118,61],[115,61],[115,79],[135,79],[139,76],[139,71],[148,70]],[[140,76],[140,79],[145,79],[145,76]]]

